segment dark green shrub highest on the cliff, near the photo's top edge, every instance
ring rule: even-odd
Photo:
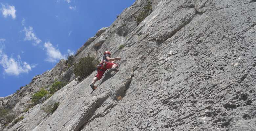
[[[136,23],[137,26],[139,25],[140,22],[142,22],[148,15],[150,15],[152,12],[152,5],[148,1],[148,4],[143,7],[143,10],[139,12],[139,15],[136,16]]]

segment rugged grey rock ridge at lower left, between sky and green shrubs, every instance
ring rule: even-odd
[[[31,83],[22,86],[18,92],[1,98],[0,105],[18,112],[24,111],[28,104],[30,104],[32,95],[38,92],[40,88],[53,84],[55,80],[59,79],[61,74],[66,72],[67,67],[66,60],[60,60],[53,69],[33,77]]]

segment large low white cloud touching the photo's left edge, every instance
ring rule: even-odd
[[[0,48],[0,65],[3,66],[4,71],[8,75],[18,76],[21,73],[29,73],[36,65],[29,65],[27,62],[22,62],[21,57],[18,55],[17,59],[8,57],[3,52],[3,47]]]

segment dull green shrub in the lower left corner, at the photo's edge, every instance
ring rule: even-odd
[[[13,112],[9,109],[0,107],[0,124],[1,124],[1,126],[7,126],[15,118],[16,118],[16,112]]]

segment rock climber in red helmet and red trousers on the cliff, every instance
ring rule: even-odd
[[[117,69],[118,64],[115,63],[117,60],[121,60],[120,57],[117,58],[111,58],[111,53],[109,51],[105,51],[103,53],[103,57],[99,63],[99,65],[97,65],[97,75],[93,78],[92,84],[90,85],[92,87],[93,90],[96,90],[97,86],[95,86],[94,84],[96,83],[96,81],[100,80],[101,77],[103,76],[104,72],[107,69],[111,69],[112,71],[119,71]]]

